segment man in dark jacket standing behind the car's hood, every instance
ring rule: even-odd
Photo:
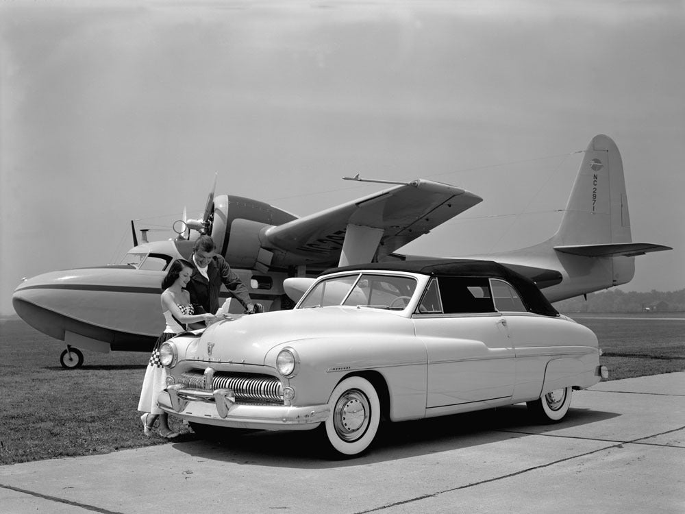
[[[221,284],[226,286],[248,313],[253,313],[254,303],[247,287],[232,271],[228,262],[215,252],[214,240],[208,235],[199,236],[192,247],[190,261],[195,269],[192,271],[186,290],[190,293],[190,303],[195,306],[195,314],[200,313],[201,310],[215,314],[219,310]]]

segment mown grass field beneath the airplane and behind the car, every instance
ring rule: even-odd
[[[599,337],[610,380],[685,370],[684,314],[571,317]],[[136,411],[149,354],[84,352],[84,366],[66,370],[63,349],[21,319],[0,320],[0,464],[167,442],[145,437]],[[196,437],[177,419],[171,426],[176,441]]]

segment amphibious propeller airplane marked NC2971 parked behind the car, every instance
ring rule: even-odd
[[[64,367],[82,365],[79,348],[147,352],[164,330],[159,302],[164,270],[176,258],[190,258],[199,234],[211,234],[249,284],[253,299],[266,310],[278,310],[292,306],[290,297],[299,297],[323,269],[426,258],[396,251],[482,201],[464,189],[429,180],[370,182],[395,185],[301,218],[262,201],[214,197],[212,191],[203,219],[175,223],[175,240],[138,245],[134,230],[136,246],[121,264],[24,280],[14,291],[14,310],[40,332],[66,343],[60,357]],[[191,230],[197,234],[191,236]],[[634,256],[667,249],[632,243],[621,155],[614,141],[599,135],[586,149],[556,234],[532,247],[469,258],[508,265],[556,302],[630,282]]]

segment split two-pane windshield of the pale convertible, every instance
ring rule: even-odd
[[[322,280],[299,308],[348,305],[402,310],[412,298],[416,280],[411,277],[362,273]]]

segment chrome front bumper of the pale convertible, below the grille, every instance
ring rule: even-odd
[[[203,391],[169,386],[157,399],[162,411],[186,421],[253,430],[312,430],[325,421],[330,407],[236,404],[230,389]]]

